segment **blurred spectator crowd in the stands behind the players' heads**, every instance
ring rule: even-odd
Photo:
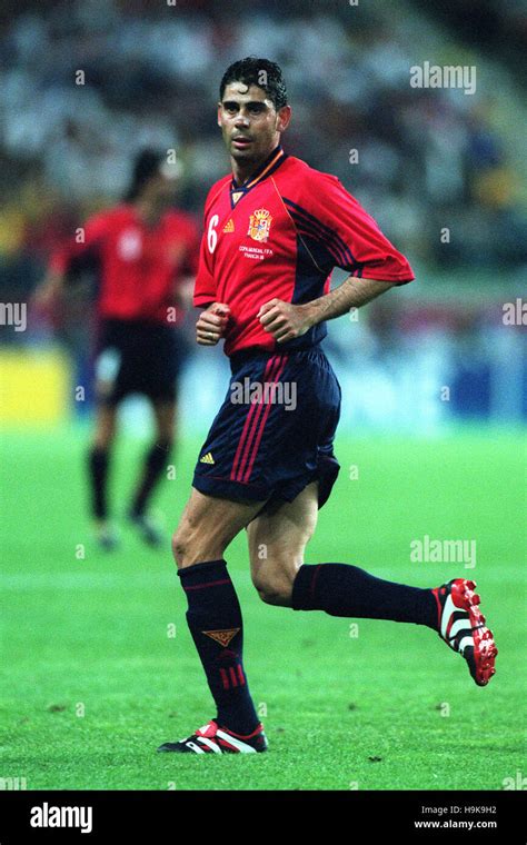
[[[145,146],[177,150],[180,203],[200,213],[228,169],[219,81],[249,54],[284,69],[287,151],[337,175],[410,259],[525,265],[518,173],[496,103],[409,83],[416,41],[432,26],[397,2],[21,0],[0,48],[2,286],[28,292],[53,246],[125,193]],[[429,58],[464,63],[458,50],[445,41]]]

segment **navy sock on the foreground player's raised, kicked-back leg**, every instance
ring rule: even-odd
[[[295,610],[325,610],[330,616],[411,622],[437,628],[431,589],[376,578],[358,566],[301,566],[292,585]]]

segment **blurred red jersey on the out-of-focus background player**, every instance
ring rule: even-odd
[[[177,284],[196,275],[198,255],[199,229],[189,215],[169,210],[150,227],[133,206],[121,205],[91,217],[83,242],[64,245],[51,257],[50,268],[66,272],[73,260],[96,256],[100,317],[167,322]]]

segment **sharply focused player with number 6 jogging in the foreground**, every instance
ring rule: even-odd
[[[344,563],[304,563],[317,511],[339,470],[332,445],[340,387],[320,347],[326,321],[414,276],[337,178],[285,153],[280,140],[290,119],[277,64],[248,58],[228,68],[218,125],[232,175],[208,195],[193,301],[205,308],[198,344],[225,338],[232,378],[173,535],[187,620],[217,713],[159,752],[267,748],[243,669],[240,606],[223,558],[243,528],[252,583],[264,602],[422,625],[463,655],[479,686],[495,673],[497,650],[474,581],[455,578],[419,589]],[[334,267],[349,277],[330,291]],[[261,389],[241,404],[240,385]],[[295,401],[276,401],[295,396],[288,386],[296,388]]]

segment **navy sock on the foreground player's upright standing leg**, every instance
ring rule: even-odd
[[[225,560],[178,570],[187,594],[187,622],[218,709],[216,720],[237,734],[259,724],[243,672],[243,624]]]

